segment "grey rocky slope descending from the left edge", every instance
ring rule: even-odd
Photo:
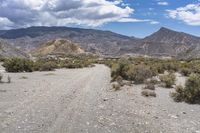
[[[11,46],[5,40],[0,39],[0,57],[26,58],[28,57],[28,55],[22,52],[21,50]]]

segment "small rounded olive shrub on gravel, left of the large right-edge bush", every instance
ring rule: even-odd
[[[166,88],[171,88],[172,85],[174,85],[176,81],[176,76],[173,73],[161,75],[159,78],[161,82],[165,83]]]

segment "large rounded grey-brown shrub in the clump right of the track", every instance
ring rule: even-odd
[[[127,71],[128,79],[134,81],[135,84],[144,83],[148,78],[154,76],[149,66],[146,65],[132,65]]]

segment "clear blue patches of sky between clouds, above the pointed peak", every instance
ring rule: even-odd
[[[179,7],[185,7],[188,4],[197,4],[198,0],[163,0],[169,5],[158,5],[156,0],[125,0],[130,7],[135,9],[132,17],[139,19],[152,19],[159,24],[142,23],[110,23],[102,26],[100,29],[108,29],[117,33],[129,36],[144,37],[159,30],[160,27],[167,27],[173,30],[190,33],[200,36],[200,25],[188,25],[181,20],[175,20],[168,17],[166,10],[175,10]]]

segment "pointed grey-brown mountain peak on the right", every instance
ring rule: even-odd
[[[161,28],[159,31],[142,39],[139,46],[143,48],[143,54],[177,56],[192,47],[200,46],[200,38],[183,32]]]

